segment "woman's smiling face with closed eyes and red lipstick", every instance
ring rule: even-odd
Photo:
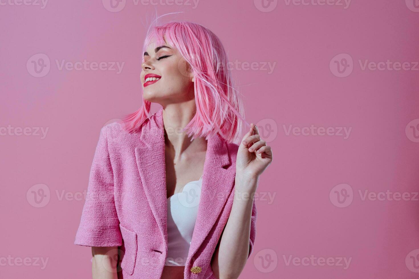
[[[173,46],[153,41],[144,53],[141,83],[143,98],[160,105],[194,99],[194,78],[189,64]]]

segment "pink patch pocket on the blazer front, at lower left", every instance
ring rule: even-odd
[[[132,275],[137,259],[137,233],[125,228],[121,224],[119,224],[119,228],[121,228],[125,248],[125,253],[122,255],[121,267],[129,275]]]

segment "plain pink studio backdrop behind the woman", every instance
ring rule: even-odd
[[[71,195],[87,189],[100,128],[140,106],[143,23],[155,10],[184,11],[166,18],[214,31],[230,61],[256,62],[253,69],[236,64],[233,74],[246,119],[270,131],[265,136],[274,163],[260,179],[255,250],[240,278],[417,278],[418,197],[362,195],[367,190],[414,197],[419,191],[418,66],[363,70],[359,62],[389,59],[414,67],[419,8],[413,0],[353,0],[346,8],[343,1],[282,0],[273,1],[269,12],[260,0],[201,0],[196,7],[127,0],[119,12],[106,10],[100,0],[50,1],[44,8],[13,1],[0,6],[2,278],[91,277],[90,248],[73,245],[84,200]],[[39,53],[51,61],[44,77],[26,68]],[[352,70],[346,77],[336,76],[336,63],[343,67],[348,57],[339,54],[353,59],[346,60]],[[124,67],[120,74],[59,70],[56,59],[118,61]],[[268,63],[276,63],[273,72],[262,67]],[[351,132],[346,139],[287,135],[290,125],[312,124]],[[4,133],[8,125],[17,133],[25,127],[32,132]],[[37,136],[32,127],[48,128],[47,136]],[[30,188],[37,184],[50,192],[41,207],[31,200]],[[345,193],[341,187],[348,195],[342,204],[344,197],[334,192]],[[62,193],[70,196],[60,199]],[[9,255],[31,260],[28,266],[6,263]],[[331,257],[335,264],[298,264],[311,255]],[[290,256],[294,261],[287,264]],[[36,257],[48,258],[44,269]],[[349,267],[337,265],[339,257],[351,258]]]

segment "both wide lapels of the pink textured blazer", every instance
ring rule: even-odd
[[[145,195],[167,247],[166,161],[162,112],[163,108],[160,108],[154,120],[143,126],[140,143],[135,148],[135,157]],[[188,258],[198,251],[216,223],[231,193],[234,179],[235,167],[230,161],[227,145],[217,133],[207,140],[197,221]]]

